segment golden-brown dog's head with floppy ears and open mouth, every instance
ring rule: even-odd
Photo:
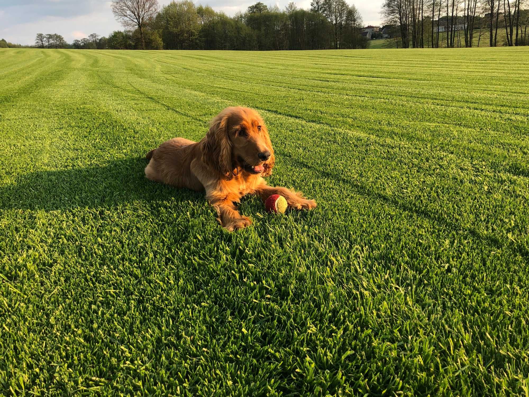
[[[204,161],[223,175],[235,168],[255,175],[272,174],[272,142],[259,113],[247,107],[227,107],[211,122]]]

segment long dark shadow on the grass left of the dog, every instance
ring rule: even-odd
[[[63,210],[120,203],[205,200],[203,193],[151,182],[143,158],[114,160],[104,166],[37,171],[0,187],[0,209]]]

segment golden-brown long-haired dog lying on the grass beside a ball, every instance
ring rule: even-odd
[[[173,138],[151,150],[146,158],[150,162],[145,176],[152,181],[206,191],[217,220],[230,231],[251,223],[234,205],[247,194],[258,194],[263,201],[280,194],[296,210],[316,206],[314,200],[306,200],[299,192],[267,186],[262,177],[272,174],[272,142],[259,113],[247,107],[224,109],[200,142]]]

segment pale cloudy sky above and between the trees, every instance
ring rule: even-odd
[[[195,4],[210,5],[215,11],[234,15],[245,11],[259,0],[195,0]],[[285,8],[291,0],[261,0],[266,5]],[[347,0],[362,14],[365,25],[380,24],[382,0]],[[160,7],[170,0],[158,0]],[[298,8],[308,9],[311,0],[294,1]],[[0,0],[0,39],[16,44],[33,44],[37,33],[58,33],[66,41],[102,36],[123,29],[116,22],[110,0]]]

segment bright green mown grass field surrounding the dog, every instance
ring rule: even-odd
[[[0,392],[527,395],[529,48],[0,50]],[[258,109],[311,212],[144,178]]]

